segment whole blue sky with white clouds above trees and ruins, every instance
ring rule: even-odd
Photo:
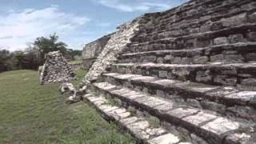
[[[141,14],[187,0],[0,0],[0,48],[23,50],[57,33],[70,48],[82,46]]]

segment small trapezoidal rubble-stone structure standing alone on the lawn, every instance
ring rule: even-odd
[[[39,70],[41,84],[51,82],[70,82],[76,79],[76,74],[72,70],[66,58],[59,51],[46,54],[46,62]]]

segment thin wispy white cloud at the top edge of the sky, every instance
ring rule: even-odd
[[[124,12],[149,11],[149,10],[168,10],[172,5],[166,1],[152,0],[98,0],[103,6],[114,8]]]

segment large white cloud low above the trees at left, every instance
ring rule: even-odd
[[[23,49],[34,38],[53,33],[70,44],[74,39],[69,36],[86,22],[90,22],[90,18],[64,13],[57,5],[40,10],[10,11],[5,15],[0,14],[0,46],[9,47],[9,50]]]

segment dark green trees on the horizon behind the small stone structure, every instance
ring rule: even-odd
[[[45,55],[50,51],[60,50],[68,61],[78,60],[82,50],[68,49],[64,42],[58,42],[58,35],[50,34],[49,38],[36,38],[26,50],[10,52],[0,49],[0,72],[8,70],[38,70],[45,62]]]

